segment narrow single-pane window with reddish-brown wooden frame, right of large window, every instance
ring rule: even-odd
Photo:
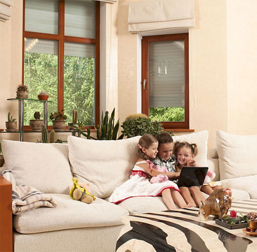
[[[143,37],[142,113],[164,129],[189,129],[187,33]]]

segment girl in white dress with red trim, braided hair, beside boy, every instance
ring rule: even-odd
[[[172,172],[159,172],[154,169],[154,164],[149,161],[150,158],[155,158],[158,153],[158,141],[151,135],[143,135],[139,139],[138,151],[140,158],[131,171],[130,179],[115,188],[109,198],[109,202],[118,204],[121,201],[131,197],[162,195],[163,202],[169,210],[190,207],[186,204],[183,197],[179,193],[177,184],[168,180],[161,183],[150,183],[150,176],[165,174],[169,177]],[[174,203],[175,202],[175,203]]]

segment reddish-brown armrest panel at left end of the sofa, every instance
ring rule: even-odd
[[[12,184],[0,176],[0,251],[13,251]]]

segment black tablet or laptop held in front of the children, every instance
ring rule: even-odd
[[[207,171],[208,167],[182,167],[177,181],[178,187],[203,185]]]

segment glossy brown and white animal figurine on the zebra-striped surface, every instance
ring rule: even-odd
[[[201,220],[207,220],[209,215],[216,215],[222,218],[231,208],[232,193],[229,188],[215,190],[205,202],[201,202],[198,216]]]

